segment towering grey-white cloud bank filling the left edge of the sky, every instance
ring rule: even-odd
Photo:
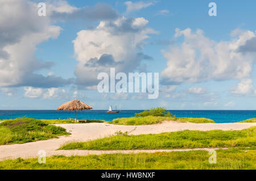
[[[0,7],[0,86],[48,87],[49,82],[57,87],[71,83],[61,77],[35,73],[53,65],[35,57],[36,46],[56,39],[61,27],[52,25],[48,16],[38,16],[34,2],[2,0]]]

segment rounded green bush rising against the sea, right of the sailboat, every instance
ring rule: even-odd
[[[140,113],[135,113],[136,117],[146,117],[146,116],[162,116],[162,117],[175,117],[167,111],[164,107],[151,108],[150,110],[145,110]]]

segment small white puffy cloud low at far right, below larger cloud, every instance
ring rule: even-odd
[[[237,86],[231,89],[233,94],[250,94],[253,92],[253,81],[251,79],[242,79]]]

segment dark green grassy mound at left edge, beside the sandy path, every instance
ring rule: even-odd
[[[68,134],[70,133],[66,132],[65,128],[31,118],[18,118],[0,123],[0,145],[48,140]]]

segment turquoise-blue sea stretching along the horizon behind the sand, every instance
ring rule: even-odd
[[[106,113],[105,110],[88,110],[77,112],[77,119],[111,121],[118,117],[133,117],[134,113],[142,110],[124,110],[120,113]],[[205,110],[180,110],[172,111],[176,117],[206,117],[216,123],[234,123],[256,117],[256,111],[205,111]],[[36,110],[36,111],[7,111],[0,110],[0,120],[16,117],[31,117],[35,119],[68,119],[74,118],[75,113],[69,111]]]

